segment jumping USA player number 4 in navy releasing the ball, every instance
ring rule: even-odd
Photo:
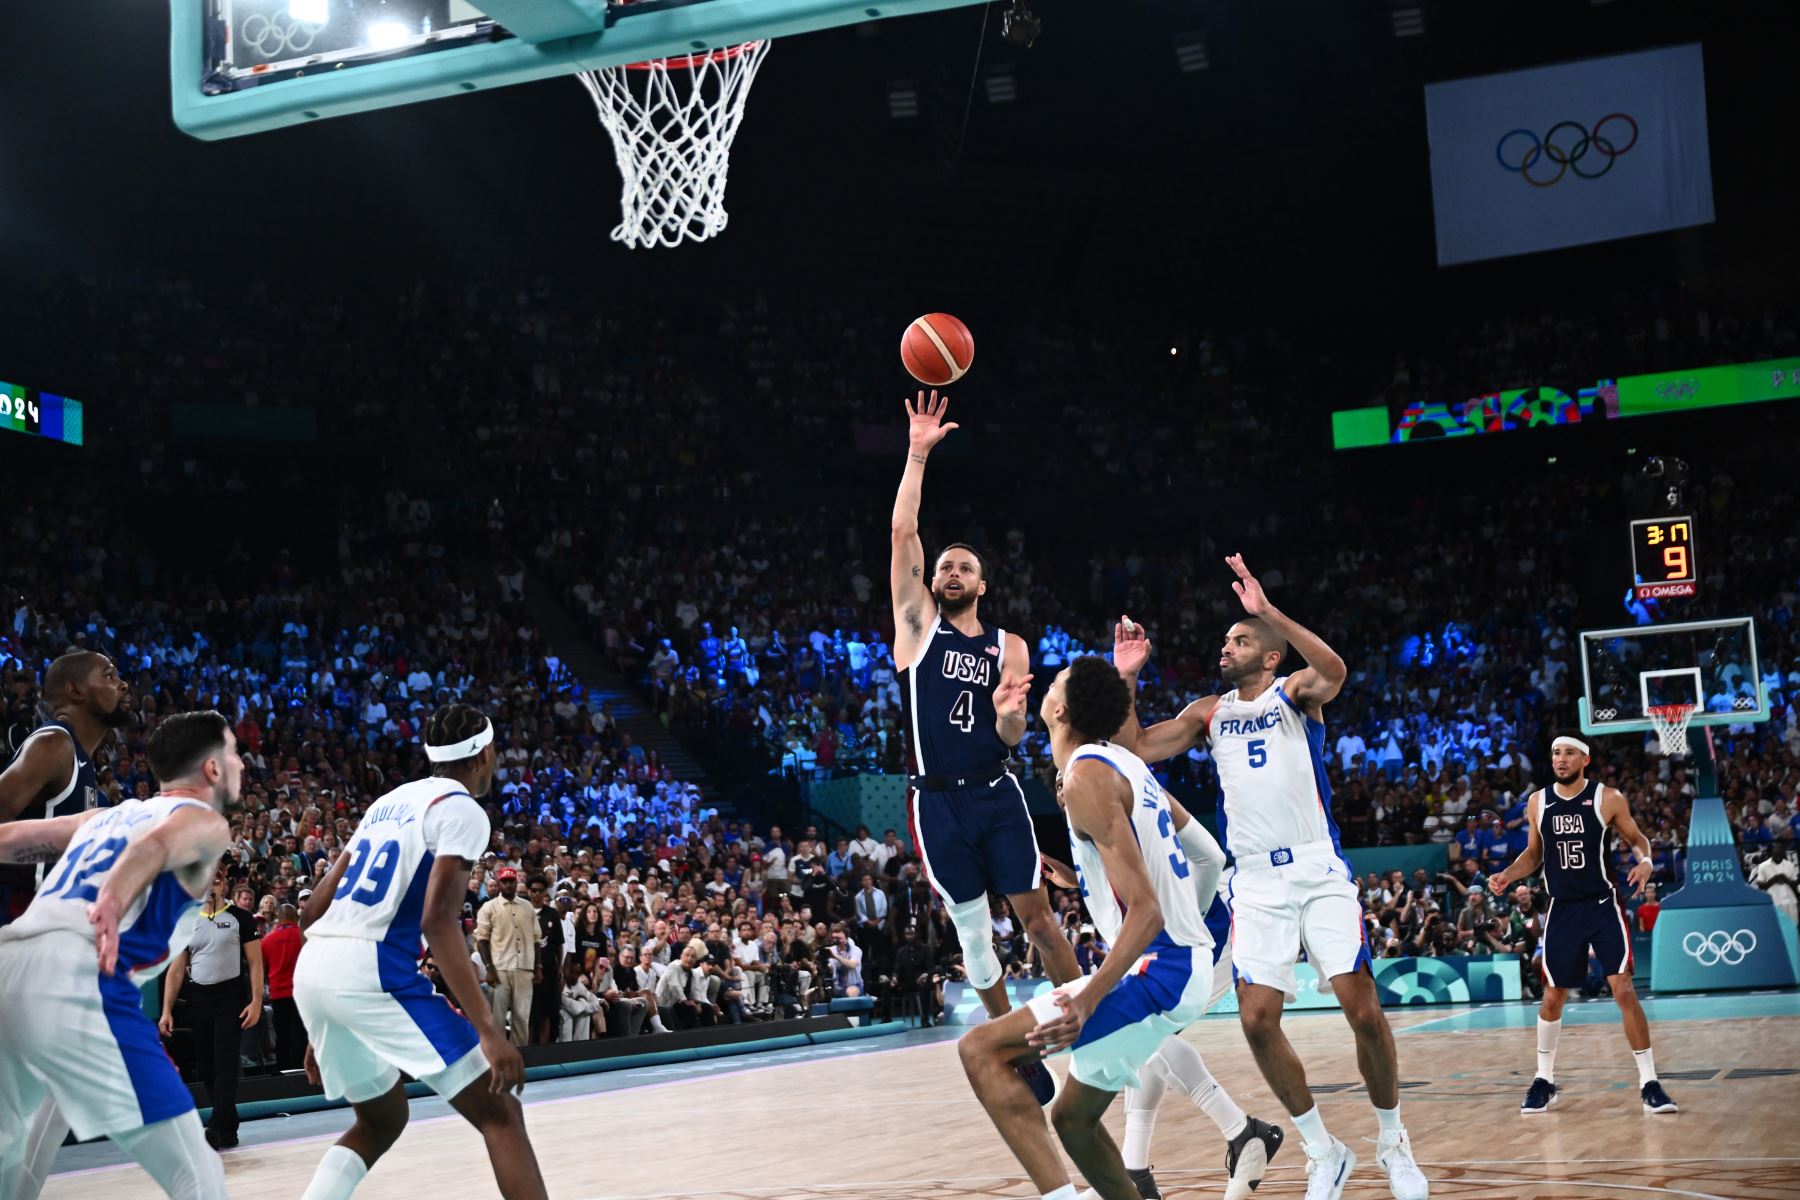
[[[905,716],[913,842],[931,885],[943,898],[963,945],[963,970],[988,1016],[1012,1009],[1001,961],[994,954],[992,894],[1012,901],[1049,977],[1080,975],[1075,950],[1049,912],[1037,835],[1024,790],[1008,772],[1012,748],[1024,738],[1031,660],[1024,639],[981,622],[986,563],[952,543],[925,581],[918,540],[918,504],[925,459],[956,423],[945,425],[950,398],[918,394],[907,401],[907,461],[893,513],[895,666]],[[1040,1103],[1049,1103],[1049,1072],[1026,1069]]]

